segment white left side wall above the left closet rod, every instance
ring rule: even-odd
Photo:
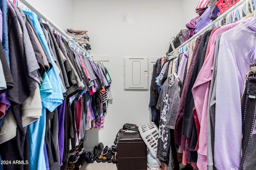
[[[73,0],[27,0],[52,20],[60,29],[66,31],[73,27]]]

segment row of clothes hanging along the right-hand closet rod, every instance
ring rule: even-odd
[[[178,77],[182,82],[178,108],[173,108],[177,94],[174,97],[164,91],[165,84],[171,86],[170,78],[162,82],[160,105],[155,108],[152,99],[154,101],[156,92],[151,86],[153,113],[157,108],[160,111],[160,152],[167,155],[173,152],[174,136],[185,165],[191,163],[200,170],[254,169],[255,48],[256,11],[253,18],[212,28],[191,41],[189,50],[178,56]],[[153,76],[152,82],[154,80]],[[176,89],[178,87],[176,85]],[[173,128],[170,122],[173,123],[175,114]],[[167,165],[176,162],[174,156],[172,161],[164,156],[158,154]],[[169,168],[176,169],[176,165]]]

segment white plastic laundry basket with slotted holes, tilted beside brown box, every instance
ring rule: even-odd
[[[146,143],[148,149],[152,153],[152,155],[156,158],[157,152],[157,141],[158,141],[158,127],[156,123],[149,122],[145,125],[139,125],[140,136],[142,137],[143,141]],[[156,158],[159,164],[160,161]]]

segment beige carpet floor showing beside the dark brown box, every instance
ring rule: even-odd
[[[112,164],[108,162],[98,163],[96,161],[92,164],[85,162],[80,168],[80,170],[117,170],[117,164]],[[150,168],[148,168],[148,170],[150,170]]]

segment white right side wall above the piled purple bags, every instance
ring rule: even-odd
[[[181,0],[182,6],[180,10],[182,10],[182,28],[187,29],[186,23],[188,23],[191,19],[198,16],[196,14],[196,6],[199,0]]]

